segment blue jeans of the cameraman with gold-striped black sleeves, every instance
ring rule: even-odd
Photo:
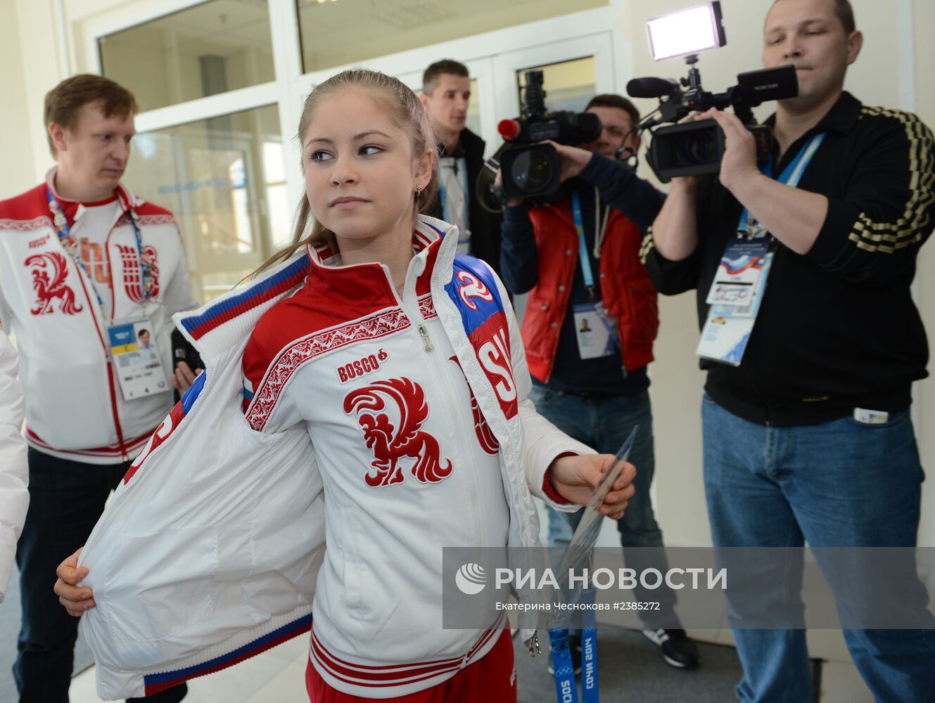
[[[908,413],[891,413],[885,424],[845,417],[768,427],[742,420],[705,395],[701,417],[715,547],[802,547],[806,540],[812,547],[915,546],[924,474]],[[800,570],[800,564],[791,567]],[[841,610],[841,589],[833,579],[829,585]],[[756,605],[768,611],[778,604],[770,604],[764,589]],[[737,623],[742,613],[735,606],[730,603],[730,614]],[[743,666],[741,701],[813,700],[804,629],[733,633]],[[843,634],[877,700],[932,699],[935,631]]]

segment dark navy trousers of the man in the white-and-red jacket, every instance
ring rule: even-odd
[[[87,541],[128,466],[94,466],[29,450],[29,510],[16,552],[22,625],[13,678],[21,703],[68,703],[79,618],[52,591],[55,569]],[[181,684],[146,700],[174,703],[186,690]]]

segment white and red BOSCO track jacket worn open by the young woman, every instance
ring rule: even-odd
[[[493,605],[487,628],[441,626],[442,548],[538,547],[532,495],[576,509],[543,494],[547,467],[592,450],[539,417],[509,298],[456,246],[422,218],[401,296],[381,265],[308,251],[177,316],[206,373],[81,555],[100,696],[230,666],[312,616],[313,665],[357,696],[490,649]]]

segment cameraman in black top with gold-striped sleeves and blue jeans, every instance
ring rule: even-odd
[[[777,0],[764,63],[795,65],[799,94],[770,119],[773,178],[758,169],[741,122],[712,111],[704,117],[726,133],[719,179],[675,179],[643,244],[660,293],[698,290],[715,546],[916,543],[923,472],[908,410],[928,348],[910,284],[935,224],[935,158],[914,115],[843,92],[861,45],[846,0]],[[741,250],[739,223],[752,235]],[[709,308],[739,290],[722,256],[757,246],[769,261],[755,323]],[[769,598],[758,605],[770,609]],[[804,630],[734,637],[742,701],[813,700]],[[844,637],[877,700],[931,699],[935,630]]]

